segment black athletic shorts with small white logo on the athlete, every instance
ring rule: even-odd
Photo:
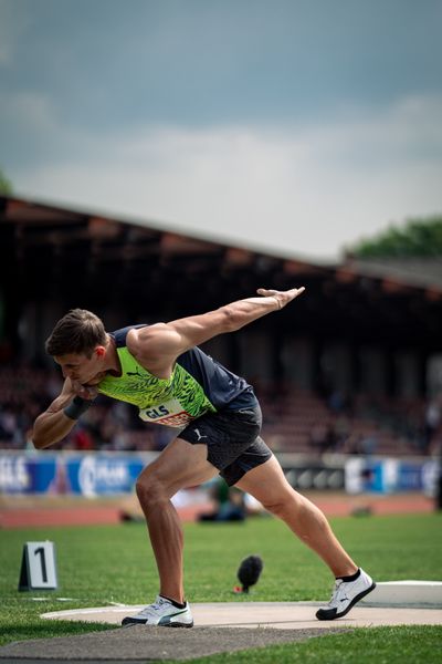
[[[208,447],[208,461],[219,469],[231,487],[252,468],[271,458],[272,452],[260,436],[260,406],[209,413],[193,419],[179,438]]]

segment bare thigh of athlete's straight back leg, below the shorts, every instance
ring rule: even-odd
[[[284,496],[288,498],[288,496],[293,497],[294,494],[294,489],[286,480],[280,461],[275,456],[271,456],[261,466],[249,470],[235,484],[235,487],[250,494],[262,505],[273,505],[284,499]]]

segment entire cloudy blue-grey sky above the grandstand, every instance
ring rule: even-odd
[[[339,260],[442,212],[442,0],[0,0],[18,196]]]

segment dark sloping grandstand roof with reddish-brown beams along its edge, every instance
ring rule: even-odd
[[[130,320],[145,311],[170,320],[250,297],[259,287],[305,286],[299,304],[282,312],[281,330],[441,347],[442,281],[403,271],[315,264],[4,196],[0,246],[3,298],[17,318],[27,302],[57,299],[98,311],[112,303]]]

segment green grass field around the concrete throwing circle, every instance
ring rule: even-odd
[[[378,581],[442,579],[442,515],[336,518],[345,548]],[[187,523],[186,588],[191,602],[324,600],[332,578],[322,561],[272,518],[245,523]],[[23,544],[55,543],[59,589],[18,592]],[[235,595],[242,558],[260,554],[264,569],[249,596]],[[0,643],[109,629],[96,623],[46,621],[40,613],[109,602],[143,604],[157,593],[157,573],[139,523],[0,531]],[[40,598],[43,601],[35,601]],[[60,601],[59,598],[71,598]],[[113,627],[113,625],[110,625]],[[293,645],[232,653],[198,662],[435,662],[442,629],[378,627],[322,636]],[[339,656],[337,656],[337,653]],[[344,654],[343,654],[344,653]],[[348,653],[348,655],[345,655]],[[357,655],[355,654],[357,653]],[[344,658],[347,657],[347,658]],[[438,658],[438,662],[440,658]],[[197,662],[197,660],[194,661]]]

